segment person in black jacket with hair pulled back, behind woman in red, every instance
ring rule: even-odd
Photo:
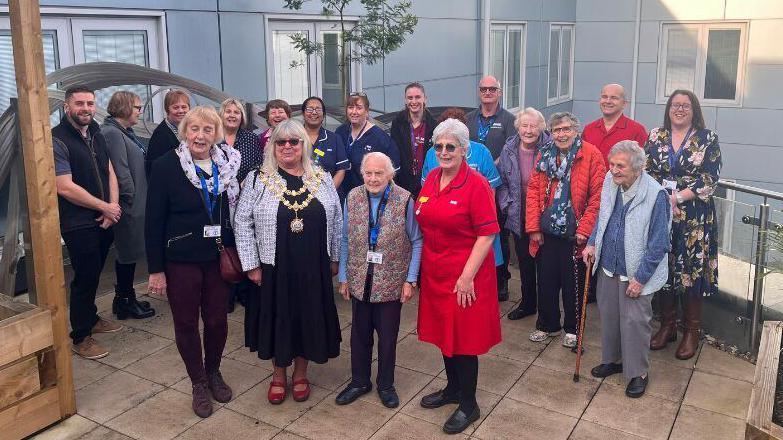
[[[432,147],[435,125],[435,118],[427,110],[424,86],[417,82],[405,86],[405,108],[392,121],[390,134],[400,148],[400,170],[394,181],[413,197],[421,190],[421,169]]]

